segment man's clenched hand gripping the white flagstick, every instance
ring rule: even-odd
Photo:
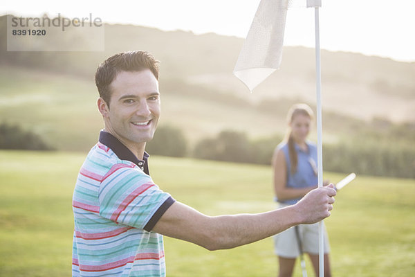
[[[313,224],[330,216],[333,210],[334,196],[336,192],[333,184],[323,188],[316,188],[307,193],[297,204],[297,212],[302,218],[303,224]]]

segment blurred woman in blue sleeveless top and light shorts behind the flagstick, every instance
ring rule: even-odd
[[[308,105],[297,104],[288,111],[288,132],[273,155],[275,199],[279,207],[293,205],[317,188],[317,148],[307,140],[313,120]],[[296,228],[298,228],[296,230]],[[297,233],[297,234],[296,234]],[[308,253],[319,276],[318,223],[292,227],[274,237],[279,260],[279,277],[293,274],[299,247]],[[329,240],[324,229],[324,276],[331,276]]]

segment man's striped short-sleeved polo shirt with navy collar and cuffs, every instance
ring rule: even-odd
[[[174,199],[137,157],[102,131],[73,193],[72,276],[165,276],[163,235],[151,229]]]

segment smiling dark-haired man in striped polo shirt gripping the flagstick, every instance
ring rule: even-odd
[[[210,217],[177,202],[149,177],[145,152],[160,116],[158,62],[119,53],[100,64],[95,83],[104,130],[73,194],[73,276],[165,276],[163,235],[229,249],[330,215],[332,185],[259,214]]]

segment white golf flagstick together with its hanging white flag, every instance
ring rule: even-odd
[[[304,0],[302,0],[304,1]],[[317,176],[318,186],[323,186],[322,165],[322,102],[320,69],[319,7],[322,0],[306,0],[307,8],[315,8],[315,63],[317,89]],[[282,58],[286,10],[289,0],[261,0],[250,30],[234,68],[237,76],[252,91],[268,75],[279,68]],[[324,276],[324,228],[319,225],[320,277]]]

